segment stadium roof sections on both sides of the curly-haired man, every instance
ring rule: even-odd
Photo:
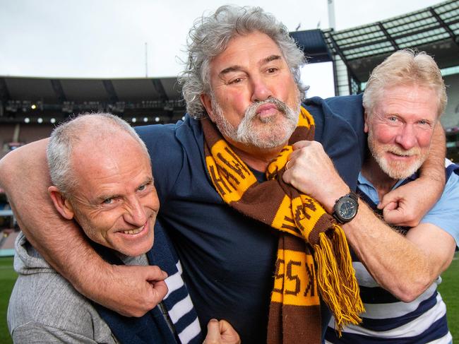
[[[310,62],[341,57],[351,76],[364,82],[374,66],[405,47],[434,55],[441,69],[459,65],[459,0],[347,30],[291,32]],[[0,76],[0,101],[169,102],[181,100],[177,78],[26,78]],[[183,105],[182,105],[183,108]],[[6,109],[8,111],[8,109]]]

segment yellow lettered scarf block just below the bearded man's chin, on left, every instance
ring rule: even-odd
[[[218,194],[226,203],[239,201],[249,186],[256,183],[256,177],[224,140],[217,141],[211,153],[205,163]]]

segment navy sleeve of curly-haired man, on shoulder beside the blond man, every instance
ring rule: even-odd
[[[306,100],[316,122],[315,140],[322,143],[344,181],[355,189],[366,152],[362,95]]]

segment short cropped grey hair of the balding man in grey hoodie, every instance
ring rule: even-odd
[[[49,138],[47,160],[52,184],[68,198],[71,198],[77,186],[77,179],[73,175],[72,151],[78,143],[84,140],[84,133],[90,130],[97,131],[97,134],[105,137],[107,137],[106,134],[113,131],[129,134],[148,156],[147,147],[136,131],[126,121],[113,114],[85,113],[59,125],[52,131]]]

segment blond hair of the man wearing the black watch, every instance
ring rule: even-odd
[[[403,49],[394,52],[375,67],[366,83],[363,104],[368,115],[383,97],[385,88],[398,85],[419,85],[435,90],[438,96],[438,116],[448,100],[441,71],[434,59],[426,52]]]

